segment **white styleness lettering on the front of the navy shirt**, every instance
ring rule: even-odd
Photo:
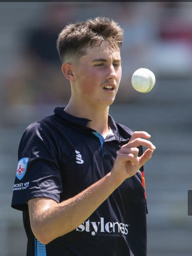
[[[92,236],[95,236],[97,232],[105,232],[105,233],[121,233],[123,235],[128,234],[128,224],[118,223],[118,222],[104,222],[104,218],[100,218],[100,222],[91,222],[86,221],[80,224],[76,231],[80,232],[91,232]]]

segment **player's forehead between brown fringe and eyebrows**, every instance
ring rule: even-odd
[[[92,61],[97,58],[120,59],[120,50],[113,49],[106,41],[103,41],[99,46],[87,48],[86,55],[82,56],[82,58],[83,57]]]

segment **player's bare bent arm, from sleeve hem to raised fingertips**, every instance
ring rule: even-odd
[[[75,197],[56,203],[48,198],[29,200],[30,222],[34,235],[43,244],[62,236],[83,223],[111,193],[127,178],[135,175],[139,168],[151,158],[155,147],[146,140],[145,132],[135,132],[129,143],[122,146],[110,173],[92,184]],[[138,157],[139,145],[148,147]]]

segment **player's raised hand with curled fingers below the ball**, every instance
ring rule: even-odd
[[[130,141],[123,145],[118,151],[111,174],[117,182],[122,183],[125,179],[132,177],[137,173],[146,161],[148,161],[155,150],[155,146],[147,139],[151,136],[146,132],[134,132]],[[145,139],[141,139],[145,138]],[[139,149],[144,146],[147,149],[142,156],[138,157]]]

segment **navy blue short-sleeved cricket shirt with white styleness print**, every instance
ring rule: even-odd
[[[27,256],[146,256],[143,167],[73,231],[47,245],[34,237],[27,202],[47,197],[59,203],[82,192],[112,170],[118,150],[133,134],[109,115],[113,134],[102,140],[86,127],[90,120],[61,107],[54,113],[32,123],[19,144],[11,206],[23,211]],[[142,147],[138,148],[141,155]]]

